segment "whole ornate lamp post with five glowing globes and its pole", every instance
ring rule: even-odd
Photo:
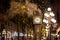
[[[46,37],[48,37],[48,35],[51,35],[51,24],[56,23],[55,14],[51,11],[50,7],[44,13],[43,22],[47,24],[47,26],[46,26]],[[50,36],[50,39],[51,39],[51,36]]]

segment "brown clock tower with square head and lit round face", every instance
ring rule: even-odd
[[[35,25],[35,33],[34,33],[35,39],[41,40],[42,16],[34,15],[33,24]]]

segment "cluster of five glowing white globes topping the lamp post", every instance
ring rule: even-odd
[[[54,19],[55,18],[55,14],[51,11],[50,7],[47,9],[46,13],[44,13],[44,18],[45,19],[44,19],[43,22],[45,22],[45,21],[47,22],[47,20],[48,20],[50,22],[56,23],[56,19]]]

